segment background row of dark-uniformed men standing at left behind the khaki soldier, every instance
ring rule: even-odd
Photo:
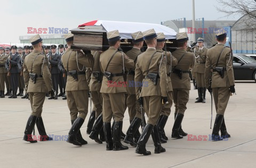
[[[50,97],[46,94],[49,99],[58,99],[62,96],[63,100],[66,100],[65,87],[67,82],[66,71],[61,63],[61,56],[65,52],[64,45],[60,44],[58,46],[59,54],[56,53],[56,45],[43,46],[45,54],[49,59],[49,67],[53,82],[53,89],[55,90],[55,95]],[[67,49],[67,45],[65,45]],[[26,56],[33,52],[33,46],[25,45],[22,47],[17,47],[15,45],[11,48],[0,47],[0,98],[4,98],[5,95],[9,95],[9,98],[17,98],[21,96],[21,99],[28,99],[28,94],[23,94],[25,90],[25,82],[23,79],[23,62]],[[50,52],[51,50],[51,52]],[[10,52],[11,51],[11,52]],[[4,94],[5,85],[7,92]],[[19,88],[19,93],[18,92]],[[60,94],[58,94],[60,90]]]

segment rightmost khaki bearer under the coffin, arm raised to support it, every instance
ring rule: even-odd
[[[181,129],[181,122],[187,109],[189,100],[190,78],[189,69],[194,68],[195,56],[191,52],[187,52],[188,36],[187,33],[178,33],[177,35],[178,49],[172,54],[178,60],[178,64],[173,67],[171,73],[173,87],[173,102],[175,105],[175,121],[172,128],[172,138],[181,139],[187,133]]]

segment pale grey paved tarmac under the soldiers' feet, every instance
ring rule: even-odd
[[[31,113],[28,99],[0,99],[0,167],[256,167],[256,83],[237,82],[236,95],[229,99],[225,113],[227,131],[231,138],[225,141],[209,140],[211,98],[206,91],[206,103],[194,103],[197,90],[190,91],[182,129],[189,134],[183,139],[172,139],[174,105],[165,126],[169,140],[163,143],[165,153],[154,154],[151,137],[147,150],[151,155],[135,154],[135,148],[106,151],[106,144],[97,144],[86,134],[87,115],[82,126],[87,145],[76,147],[65,141],[70,129],[67,101],[45,100],[43,121],[53,141],[29,143],[23,141],[27,119]],[[193,89],[193,84],[191,84]],[[90,100],[90,99],[89,99]],[[89,102],[90,106],[90,102]],[[90,113],[90,107],[89,107]],[[213,123],[215,119],[213,105]],[[212,123],[212,125],[213,125]],[[125,112],[123,132],[129,127]],[[140,129],[141,132],[141,129]],[[38,131],[36,129],[36,135]],[[201,136],[200,136],[201,135]],[[202,139],[199,139],[199,137]],[[126,145],[123,142],[123,145]]]

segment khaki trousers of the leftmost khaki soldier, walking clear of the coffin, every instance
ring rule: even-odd
[[[31,115],[41,117],[45,100],[45,93],[29,92],[28,96],[32,110]]]

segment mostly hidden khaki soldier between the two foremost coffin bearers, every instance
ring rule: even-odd
[[[136,64],[138,55],[140,55],[141,48],[144,43],[144,36],[141,31],[132,33],[132,41],[133,48],[130,51],[127,51],[127,56],[134,61]],[[140,105],[136,99],[135,94],[135,83],[134,83],[134,75],[135,75],[135,66],[127,70],[127,100],[126,104],[129,111],[130,117],[130,126],[126,132],[126,136],[124,138],[125,143],[129,143],[131,146],[136,147],[137,141],[140,138],[139,127],[141,125],[142,117],[141,117],[141,109]],[[133,140],[135,138],[135,141]]]

